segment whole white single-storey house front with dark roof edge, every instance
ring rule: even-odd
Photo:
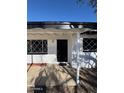
[[[91,68],[97,63],[97,23],[28,22],[27,63],[69,63]]]

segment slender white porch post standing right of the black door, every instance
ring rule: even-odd
[[[79,52],[80,52],[80,47],[79,47],[79,44],[80,44],[80,33],[77,32],[77,47],[76,47],[76,51],[77,51],[77,77],[76,77],[76,82],[77,82],[77,85],[80,83],[79,81],[79,74],[80,74],[80,60],[79,60]]]

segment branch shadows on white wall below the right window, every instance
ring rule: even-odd
[[[72,67],[77,67],[77,51],[76,51],[77,44],[73,46],[72,50]],[[83,47],[81,43],[79,44],[80,52],[79,52],[79,59],[78,62],[81,67],[84,68],[95,68],[97,66],[97,55],[96,52],[83,52]]]

